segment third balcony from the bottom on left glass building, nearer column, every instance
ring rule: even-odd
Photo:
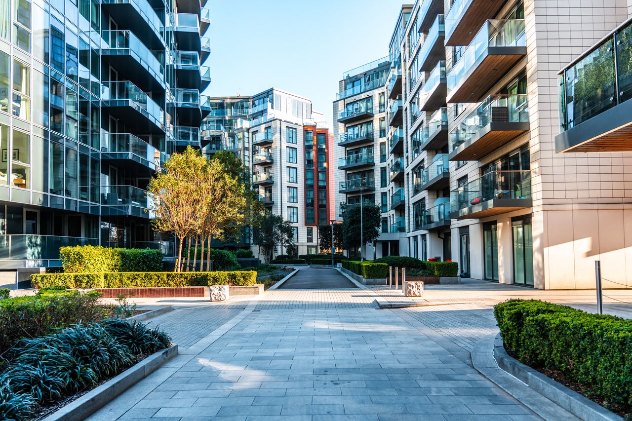
[[[102,82],[101,106],[134,133],[164,134],[164,111],[129,81]]]

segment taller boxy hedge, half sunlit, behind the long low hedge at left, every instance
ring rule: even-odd
[[[73,273],[162,271],[161,251],[150,248],[61,247],[59,260]]]

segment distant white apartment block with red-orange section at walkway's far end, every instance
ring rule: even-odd
[[[334,215],[333,137],[322,114],[312,111],[309,99],[276,88],[209,102],[200,148],[238,154],[267,211],[292,223],[298,254],[317,253],[317,226]],[[217,246],[247,247],[251,241],[246,230],[238,243]],[[258,247],[252,247],[257,255]],[[286,252],[278,247],[274,255]]]

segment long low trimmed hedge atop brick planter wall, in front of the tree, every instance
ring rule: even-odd
[[[107,272],[33,274],[34,288],[155,288],[171,286],[251,286],[255,271],[233,272]]]

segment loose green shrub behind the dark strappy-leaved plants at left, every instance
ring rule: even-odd
[[[105,317],[96,291],[18,296],[0,300],[0,354],[20,338],[35,338],[54,329]]]

